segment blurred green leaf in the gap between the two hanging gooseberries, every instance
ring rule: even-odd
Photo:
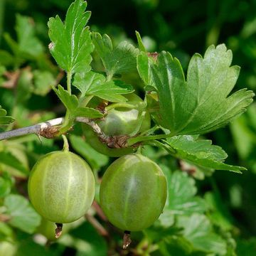
[[[85,142],[81,137],[71,135],[69,139],[73,149],[84,157],[95,171],[99,171],[100,167],[105,166],[108,163],[108,156],[100,154],[95,149],[92,149],[92,146]]]

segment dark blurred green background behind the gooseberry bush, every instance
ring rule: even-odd
[[[56,14],[64,19],[71,2],[70,0],[0,0],[1,65],[7,70],[17,68],[14,60],[9,60],[9,55],[5,55],[5,51],[10,51],[9,36],[16,38],[16,14],[21,14],[33,18],[35,33],[43,49],[39,57],[23,57],[24,60],[19,63],[18,68],[26,67],[29,63],[32,69],[36,67],[38,70],[46,70],[53,77],[60,75],[61,80],[63,75],[59,73],[48,53],[50,42],[47,22],[49,17]],[[134,31],[139,31],[147,50],[150,52],[168,50],[181,61],[184,70],[193,53],[203,54],[211,44],[225,43],[233,51],[233,65],[241,67],[235,90],[247,87],[256,92],[255,0],[88,0],[87,3],[87,10],[92,11],[89,23],[92,31],[107,33],[114,45],[124,39],[136,45]],[[31,55],[33,56],[32,53]],[[16,60],[21,58],[19,55],[16,56],[18,56]],[[134,80],[134,84],[137,83],[137,78],[129,79]],[[61,107],[55,106],[56,97],[52,92],[45,97],[47,89],[46,92],[42,92],[40,88],[38,91],[40,92],[33,92],[34,94],[27,100],[19,101],[18,97],[13,100],[9,88],[0,89],[1,105],[9,111],[9,114],[16,117],[17,127],[55,117],[54,113],[64,111]],[[14,108],[17,102],[22,107]],[[47,111],[40,112],[38,117],[36,113],[39,110]],[[213,144],[223,147],[229,156],[228,163],[245,166],[248,171],[242,175],[216,171],[213,176],[198,178],[196,179],[198,193],[203,196],[212,191],[217,198],[214,207],[217,212],[223,214],[223,218],[228,220],[228,223],[232,223],[233,228],[230,230],[235,237],[238,237],[236,253],[243,256],[256,255],[256,105],[252,104],[242,117],[228,127],[207,134],[206,137],[212,139]],[[57,144],[46,142],[43,148],[45,152],[42,152],[39,144],[33,142],[30,145],[31,148],[28,146],[27,149],[29,164],[35,161],[38,154],[55,149],[58,142]],[[94,232],[92,230],[92,233]],[[95,239],[102,238],[95,236]],[[102,246],[100,240],[99,246]],[[63,251],[68,255],[67,250],[63,249]],[[54,253],[54,250],[51,250],[48,255],[55,255]],[[100,254],[91,252],[87,255]]]

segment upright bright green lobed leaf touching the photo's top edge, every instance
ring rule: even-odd
[[[85,27],[90,18],[90,11],[84,12],[86,7],[85,1],[76,0],[68,9],[65,23],[59,16],[48,21],[50,53],[60,68],[71,74],[90,70],[93,45],[89,28]]]

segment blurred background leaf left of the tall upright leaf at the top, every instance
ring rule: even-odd
[[[34,22],[30,17],[16,15],[16,33],[21,53],[36,57],[43,53],[43,45],[35,36]]]

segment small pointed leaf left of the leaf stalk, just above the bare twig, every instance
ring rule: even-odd
[[[63,102],[66,109],[69,110],[71,113],[75,112],[75,110],[78,108],[78,98],[75,95],[70,95],[69,92],[67,90],[64,90],[61,85],[58,85],[58,89],[55,87],[52,88],[61,100],[61,102]]]

